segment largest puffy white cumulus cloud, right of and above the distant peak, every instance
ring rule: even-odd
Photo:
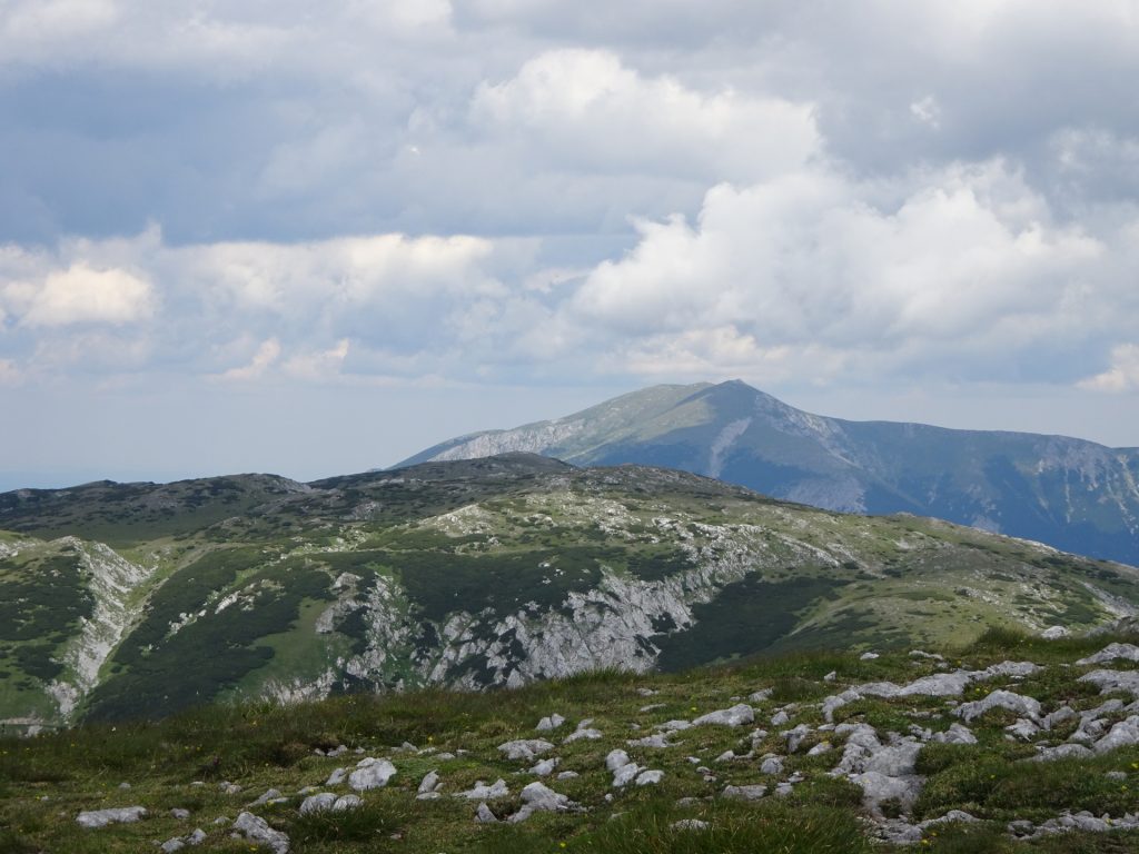
[[[904,366],[1015,352],[1084,322],[1073,295],[1104,298],[1088,279],[1107,247],[1051,224],[999,162],[919,174],[891,195],[826,170],[716,187],[695,225],[640,223],[637,247],[600,264],[571,310],[625,338],[732,329],[737,355],[753,340]]]

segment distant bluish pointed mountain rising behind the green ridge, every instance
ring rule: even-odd
[[[826,418],[734,380],[654,386],[552,421],[461,436],[400,465],[507,451],[678,468],[830,510],[933,516],[1139,564],[1133,447]]]

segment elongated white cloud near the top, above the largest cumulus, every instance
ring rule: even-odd
[[[604,50],[551,50],[475,93],[473,118],[530,156],[605,171],[755,180],[818,153],[813,106],[644,76]]]

